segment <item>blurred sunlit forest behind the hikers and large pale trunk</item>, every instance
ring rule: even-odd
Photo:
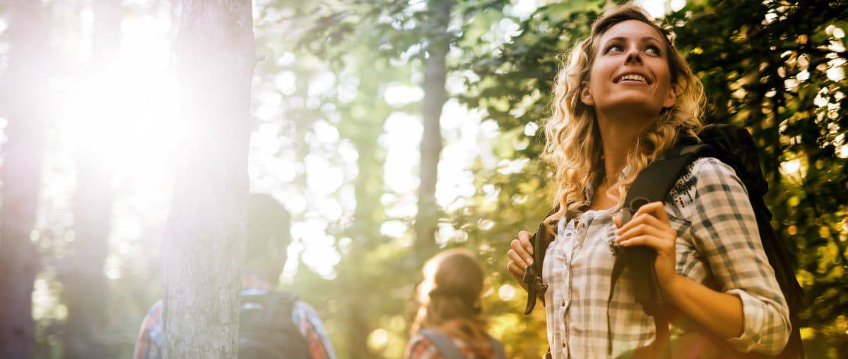
[[[181,2],[125,1],[104,15],[94,0],[38,3],[51,25],[25,40],[52,55],[43,60],[15,35],[27,25],[17,17],[37,19],[17,10],[31,2],[0,3],[0,253],[40,258],[24,267],[30,277],[4,259],[0,284],[23,288],[11,313],[31,313],[36,357],[73,356],[78,342],[126,357],[162,295],[160,253],[170,251],[161,243],[185,130],[170,64]],[[807,293],[806,351],[845,357],[848,3],[637,3],[673,31],[704,82],[707,121],[743,125],[759,141],[773,224]],[[341,357],[401,356],[421,263],[452,246],[488,267],[491,333],[514,357],[544,352],[544,317],[523,316],[505,250],[550,206],[550,170],[537,156],[557,56],[614,5],[254,2],[251,191],[293,214],[281,287],[316,307]],[[120,36],[96,40],[101,29]],[[21,140],[20,126],[38,122],[21,120],[36,115],[20,98],[41,105],[26,106],[44,112],[43,142]],[[14,169],[21,160],[30,172]],[[23,191],[28,202],[15,202]],[[27,333],[2,329],[0,340]]]

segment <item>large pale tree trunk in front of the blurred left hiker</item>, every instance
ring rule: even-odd
[[[185,0],[181,164],[165,229],[165,358],[232,359],[248,194],[250,0]]]

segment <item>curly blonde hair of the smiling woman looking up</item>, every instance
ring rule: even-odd
[[[656,123],[639,133],[635,146],[628,152],[625,173],[610,185],[606,195],[615,198],[614,193],[622,194],[617,196],[616,202],[616,207],[621,207],[623,195],[639,172],[659,154],[672,148],[680,135],[697,138],[703,127],[701,113],[705,103],[704,86],[674,48],[671,34],[656,25],[644,9],[633,4],[623,5],[601,15],[592,25],[591,36],[579,41],[567,57],[566,54],[561,55],[561,58],[567,60],[556,75],[555,101],[552,104],[552,115],[545,124],[546,143],[542,153],[542,159],[555,168],[557,192],[554,204],[559,205],[556,213],[545,218],[549,230],[552,230],[551,224],[559,218],[571,218],[579,212],[584,202],[591,202],[591,198],[586,198],[587,186],[594,185],[604,175],[597,117],[594,108],[580,100],[580,88],[583,81],[589,80],[600,37],[613,25],[626,20],[641,21],[661,34],[677,99],[673,108],[663,109]]]

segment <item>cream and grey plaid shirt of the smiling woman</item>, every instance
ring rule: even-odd
[[[737,351],[777,354],[789,339],[789,308],[762,249],[745,186],[733,168],[700,158],[678,179],[666,200],[677,231],[677,272],[700,284],[737,295],[744,330],[727,340]],[[589,191],[591,192],[591,191]],[[591,193],[589,193],[591,194]],[[589,196],[588,198],[592,198]],[[554,358],[605,357],[650,345],[653,318],[633,297],[628,269],[609,301],[612,216],[619,208],[561,218],[545,253],[543,277],[550,351]],[[683,329],[672,328],[672,339]]]

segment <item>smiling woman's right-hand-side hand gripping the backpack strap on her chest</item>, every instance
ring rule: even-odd
[[[650,246],[656,250],[656,279],[662,290],[667,290],[678,276],[674,244],[678,233],[668,222],[666,208],[662,202],[651,202],[633,213],[630,222],[622,226],[621,216],[613,218],[618,230],[616,235],[621,246]]]

